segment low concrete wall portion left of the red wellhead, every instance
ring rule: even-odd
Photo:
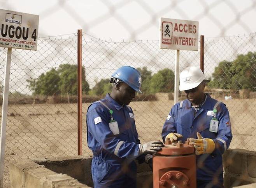
[[[93,187],[89,156],[63,157],[58,159],[26,159],[11,161],[12,188],[87,188]],[[153,188],[151,169],[138,164],[137,187]]]

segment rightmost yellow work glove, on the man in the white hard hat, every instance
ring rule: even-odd
[[[195,154],[210,154],[215,149],[215,143],[210,138],[203,138],[200,133],[196,133],[197,138],[189,138],[189,145],[193,145],[195,147]]]

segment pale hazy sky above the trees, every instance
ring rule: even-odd
[[[233,60],[238,53],[255,51],[255,37],[248,34],[256,32],[256,0],[0,0],[0,9],[39,15],[39,37],[77,33],[77,29],[82,29],[86,34],[109,41],[97,43],[86,38],[89,42],[82,63],[91,88],[95,79],[109,78],[111,71],[123,65],[147,66],[153,73],[166,67],[174,70],[174,50],[167,53],[159,49],[158,41],[150,41],[159,40],[160,17],[199,21],[199,35],[205,37],[243,36],[229,40],[206,39],[216,40],[205,43],[208,77],[221,60]],[[37,52],[13,50],[10,91],[31,93],[26,79],[37,78],[60,63],[75,64],[76,37],[72,37],[69,44],[63,40],[41,39],[41,51]],[[224,41],[219,41],[222,39]],[[113,45],[111,40],[149,41],[144,45],[143,42]],[[2,81],[4,48],[0,48],[0,52]],[[199,55],[195,51],[181,52],[180,67],[199,65]]]

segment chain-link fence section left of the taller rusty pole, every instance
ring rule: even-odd
[[[4,48],[0,50],[0,57],[3,88]],[[72,98],[70,103],[66,101],[68,104],[54,103],[54,96],[60,93],[60,88],[56,89],[60,72],[67,73],[61,64],[69,65],[67,69],[77,67],[77,34],[40,38],[37,51],[12,50],[4,166],[6,186],[10,160],[77,154],[77,104],[72,103]],[[73,78],[69,84],[76,85],[77,78]]]

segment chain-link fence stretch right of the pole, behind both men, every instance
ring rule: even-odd
[[[103,94],[102,97],[107,93],[103,80],[109,79],[118,67],[130,65],[140,69],[142,91],[149,97],[138,96],[136,99],[143,101],[131,103],[137,129],[142,142],[161,139],[163,123],[174,104],[175,50],[159,49],[158,40],[115,43],[93,37],[87,40],[86,34],[84,37],[86,78],[91,79],[89,83],[95,88],[101,88],[98,94]],[[230,148],[255,150],[255,38],[255,33],[205,38],[204,72],[211,80],[206,91],[224,102],[230,111],[234,135]],[[199,60],[200,51],[181,51],[180,71],[187,66],[199,66]]]

